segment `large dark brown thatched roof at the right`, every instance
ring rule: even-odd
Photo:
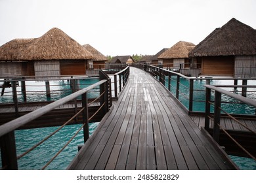
[[[232,18],[200,42],[189,56],[238,56],[256,54],[256,30]]]

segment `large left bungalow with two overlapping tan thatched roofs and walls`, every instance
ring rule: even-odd
[[[36,39],[14,39],[0,47],[1,76],[85,75],[93,56],[58,28]],[[8,68],[8,69],[7,69]]]

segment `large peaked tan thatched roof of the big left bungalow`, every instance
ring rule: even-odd
[[[93,56],[81,44],[55,27],[35,39],[33,44],[24,50],[21,59],[93,59]]]

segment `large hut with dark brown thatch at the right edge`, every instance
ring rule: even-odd
[[[190,53],[202,75],[256,76],[256,31],[232,18]]]

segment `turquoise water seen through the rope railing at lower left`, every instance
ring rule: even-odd
[[[89,124],[90,135],[95,131],[98,123]],[[55,135],[50,137],[43,144],[18,159],[18,169],[35,170],[41,169],[53,156],[68,142],[81,125],[67,125],[60,129]],[[17,156],[26,152],[29,148],[47,137],[58,127],[43,127],[37,129],[22,129],[15,131]],[[68,167],[72,159],[77,154],[77,146],[83,145],[83,129],[64,148],[64,150],[46,168],[49,170],[63,170]],[[1,166],[1,159],[0,159]]]

